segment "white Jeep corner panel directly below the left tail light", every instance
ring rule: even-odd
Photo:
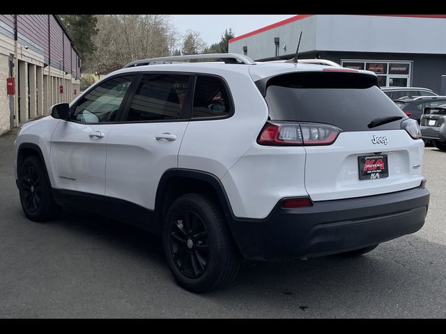
[[[305,148],[254,144],[222,177],[238,218],[265,218],[281,198],[308,196]]]

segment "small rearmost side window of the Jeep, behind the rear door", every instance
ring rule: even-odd
[[[197,77],[192,118],[213,118],[231,113],[229,95],[221,79]]]

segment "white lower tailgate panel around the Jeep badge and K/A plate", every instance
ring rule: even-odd
[[[372,143],[373,136],[384,143]],[[314,201],[373,196],[420,186],[424,143],[405,130],[342,132],[329,146],[305,146],[305,187]],[[360,180],[357,157],[387,154],[389,177]],[[414,166],[418,166],[414,168]]]

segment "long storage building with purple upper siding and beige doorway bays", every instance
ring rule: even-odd
[[[15,62],[15,126],[46,116],[49,106],[79,95],[79,56],[58,19],[54,15],[17,15],[16,41],[15,15],[0,15],[0,134],[10,129],[10,95],[6,95],[10,55]],[[25,74],[28,70],[29,77]]]

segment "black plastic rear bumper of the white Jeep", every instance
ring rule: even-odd
[[[233,218],[233,237],[250,260],[297,260],[379,244],[420,230],[429,191],[415,188],[377,196],[314,202],[264,219]]]

